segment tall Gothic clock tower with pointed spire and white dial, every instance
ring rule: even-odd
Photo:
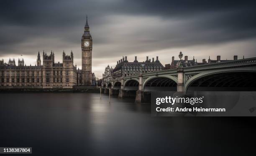
[[[82,47],[82,85],[92,85],[92,36],[86,16],[86,24],[84,26],[84,34],[81,39]]]

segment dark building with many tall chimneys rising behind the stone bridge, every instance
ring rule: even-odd
[[[112,71],[112,77],[115,79],[139,73],[150,73],[163,69],[164,66],[158,60],[158,56],[156,56],[156,61],[154,61],[154,58],[152,58],[151,61],[147,56],[146,60],[143,62],[138,62],[137,56],[135,56],[135,60],[133,62],[128,62],[127,56],[125,56],[125,58],[123,57],[117,62],[117,65]]]

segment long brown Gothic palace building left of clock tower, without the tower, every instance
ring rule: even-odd
[[[0,63],[1,87],[72,88],[77,85],[77,67],[73,65],[73,52],[63,52],[63,63],[54,63],[54,53],[43,52],[43,65],[38,52],[37,64],[24,65],[24,60]]]

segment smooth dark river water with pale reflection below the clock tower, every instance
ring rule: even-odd
[[[150,104],[97,93],[0,94],[0,147],[32,155],[236,155],[254,151],[253,118],[151,117]]]

